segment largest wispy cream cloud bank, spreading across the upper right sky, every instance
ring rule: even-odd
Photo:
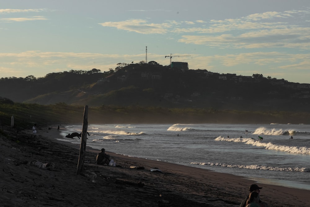
[[[209,22],[203,20],[165,21],[161,24],[155,24],[136,19],[104,22],[100,25],[140,34],[183,33],[185,35],[181,36],[178,42],[209,47],[235,49],[286,47],[309,50],[310,27],[302,25],[305,22],[304,20],[296,21],[296,18],[300,16],[307,19],[309,11],[268,11],[236,19],[210,20]]]

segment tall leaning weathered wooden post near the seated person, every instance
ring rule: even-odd
[[[77,175],[82,173],[84,158],[85,158],[85,151],[86,151],[86,139],[87,139],[87,126],[88,126],[88,106],[84,108],[84,117],[83,117],[83,127],[82,127],[82,137],[81,137],[81,146],[80,146],[80,155],[78,158],[78,169]]]

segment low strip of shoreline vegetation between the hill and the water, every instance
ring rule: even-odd
[[[2,124],[10,125],[14,115],[16,128],[30,128],[33,123],[82,124],[84,106],[65,103],[54,105],[0,104]],[[88,124],[154,123],[227,123],[227,124],[310,124],[309,113],[284,111],[237,111],[197,108],[161,108],[140,106],[99,106],[88,108]]]

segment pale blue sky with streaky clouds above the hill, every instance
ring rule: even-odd
[[[309,0],[0,0],[0,35],[0,78],[171,56],[193,70],[310,83]]]

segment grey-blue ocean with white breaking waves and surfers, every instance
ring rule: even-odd
[[[66,126],[60,140],[80,144],[65,135],[81,131]],[[310,190],[310,125],[90,124],[87,131],[94,149]]]

